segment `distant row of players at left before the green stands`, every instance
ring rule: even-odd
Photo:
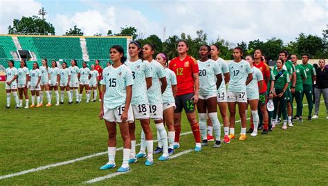
[[[6,68],[6,108],[10,108],[10,92],[12,92],[16,101],[16,109],[23,107],[23,95],[26,102],[24,108],[28,109],[28,89],[30,89],[32,95],[30,107],[43,106],[44,91],[46,91],[46,99],[48,101],[46,106],[52,106],[53,91],[55,92],[55,106],[64,104],[65,91],[69,97],[69,104],[73,103],[73,93],[75,93],[75,103],[80,103],[84,89],[86,91],[86,102],[89,102],[91,93],[93,93],[91,101],[95,102],[98,93],[98,82],[102,73],[99,61],[95,60],[95,64],[91,65],[91,70],[86,66],[86,62],[83,62],[82,68],[78,68],[75,59],[71,60],[71,66],[69,67],[66,62],[62,62],[61,65],[62,68],[58,68],[57,62],[53,60],[51,67],[48,67],[48,60],[42,59],[42,66],[34,62],[33,69],[29,71],[24,59],[21,60],[18,69],[14,67],[14,62],[10,60],[8,62],[9,67]],[[79,86],[80,92],[78,91]],[[58,89],[61,91],[61,96]],[[17,95],[17,90],[19,96]],[[37,97],[36,105],[35,95]]]

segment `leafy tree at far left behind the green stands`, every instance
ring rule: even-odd
[[[14,19],[12,26],[8,26],[9,34],[55,34],[55,27],[41,18],[33,15],[32,17],[21,17]]]

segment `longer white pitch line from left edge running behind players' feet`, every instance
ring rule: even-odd
[[[247,119],[249,120],[249,118],[247,118]],[[236,123],[237,122],[240,122],[240,120],[237,120]],[[221,124],[221,126],[222,125],[223,124]],[[192,133],[192,131],[181,133],[180,136],[185,136],[185,135],[188,135],[190,133]],[[154,142],[157,142],[157,140],[154,140]],[[136,144],[136,146],[139,146],[139,145],[140,145],[140,143]],[[123,149],[123,147],[120,147],[120,148],[116,149],[116,151],[122,151],[122,149]],[[73,160],[67,160],[67,161],[64,161],[64,162],[56,162],[56,163],[53,163],[53,164],[50,164],[50,165],[45,165],[45,166],[42,166],[42,167],[28,169],[28,170],[25,170],[25,171],[19,171],[17,173],[13,173],[13,174],[3,175],[3,176],[0,176],[0,180],[3,180],[5,178],[11,178],[11,177],[14,177],[14,176],[20,176],[20,175],[23,175],[23,174],[28,174],[28,173],[35,172],[35,171],[43,171],[45,169],[50,169],[50,168],[58,167],[58,166],[62,166],[62,165],[69,165],[69,164],[74,163],[74,162],[86,160],[86,159],[97,157],[97,156],[102,156],[104,154],[107,154],[107,151],[98,152],[96,154],[91,154],[89,156],[82,156],[80,158],[76,158],[76,159],[73,159]]]

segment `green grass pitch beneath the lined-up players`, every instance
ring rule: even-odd
[[[12,107],[13,103],[12,98]],[[6,93],[0,83],[0,176],[107,150],[107,131],[98,119],[99,102],[18,110],[5,106]],[[145,167],[141,159],[131,165],[129,173],[93,185],[328,185],[325,116],[322,103],[318,120],[295,122],[286,131],[280,125],[266,136],[233,140],[220,149],[213,149],[211,143],[199,153],[192,151],[166,162],[156,160],[156,155],[152,167]],[[182,132],[190,131],[186,121],[183,118]],[[138,124],[136,131],[140,136]],[[122,147],[119,136],[118,147]],[[175,153],[192,147],[192,134],[181,136],[181,148]],[[107,155],[96,156],[5,178],[0,185],[82,185],[114,173],[116,169],[99,170],[106,162]],[[117,151],[116,165],[121,162],[122,151]]]

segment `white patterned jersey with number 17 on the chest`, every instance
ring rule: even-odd
[[[241,62],[235,61],[228,64],[230,71],[230,82],[228,84],[228,91],[230,92],[246,92],[246,80],[248,74],[252,73],[250,64],[242,59]]]

